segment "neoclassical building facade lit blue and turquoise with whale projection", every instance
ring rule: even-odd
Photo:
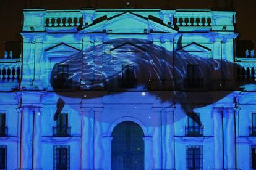
[[[256,169],[236,12],[24,9],[0,59],[0,169]]]

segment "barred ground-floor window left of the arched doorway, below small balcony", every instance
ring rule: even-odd
[[[53,159],[54,170],[69,170],[70,146],[54,146]]]

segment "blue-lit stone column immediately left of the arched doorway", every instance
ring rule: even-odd
[[[102,111],[103,108],[93,108],[94,110],[94,144],[93,144],[93,169],[103,169],[103,147],[102,147]]]

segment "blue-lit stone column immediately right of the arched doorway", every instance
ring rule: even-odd
[[[161,134],[161,110],[163,108],[153,108],[153,160],[154,169],[162,169],[162,134]]]

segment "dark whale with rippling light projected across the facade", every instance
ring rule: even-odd
[[[121,86],[122,91],[116,92],[121,93],[136,86],[166,102],[171,97],[160,95],[158,91],[171,89],[174,91],[175,102],[179,103],[187,97],[187,92],[182,91],[184,88],[207,86],[206,90],[209,91],[213,86],[213,77],[234,81],[234,67],[234,63],[228,60],[168,51],[143,39],[113,39],[54,65],[51,84],[56,89],[71,87],[81,90],[79,94],[57,92],[60,96],[83,98],[86,95],[87,99],[102,95],[92,95],[88,90],[111,91]],[[220,99],[225,95],[228,92],[220,96]],[[58,103],[64,105],[61,98]],[[183,107],[185,113],[194,108],[194,105]],[[60,113],[61,109],[58,108],[56,113]],[[201,124],[200,119],[195,121]]]

